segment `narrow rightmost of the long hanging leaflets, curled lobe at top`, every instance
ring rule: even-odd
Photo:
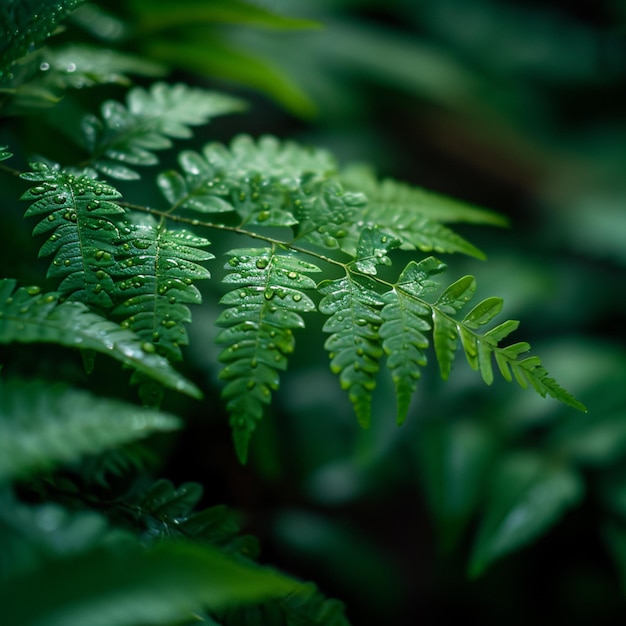
[[[420,263],[411,261],[394,288],[383,296],[385,306],[381,311],[380,336],[387,355],[387,367],[396,387],[398,424],[406,419],[421,368],[426,365],[430,308],[421,298],[438,287],[431,276],[444,269],[445,265],[433,257]]]

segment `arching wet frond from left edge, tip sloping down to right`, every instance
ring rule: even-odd
[[[0,343],[56,343],[94,350],[121,361],[155,381],[190,396],[200,390],[162,356],[152,343],[93,313],[81,302],[60,302],[58,293],[0,280]]]

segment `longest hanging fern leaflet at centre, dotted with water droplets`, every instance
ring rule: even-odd
[[[263,405],[278,388],[278,370],[287,367],[294,349],[294,328],[304,327],[300,313],[315,305],[303,289],[314,289],[306,273],[319,268],[271,248],[232,250],[224,279],[237,288],[221,304],[228,305],[217,319],[224,326],[216,338],[226,346],[219,360],[226,366],[220,378],[228,381],[222,396],[228,401],[235,448],[245,462],[248,444]]]

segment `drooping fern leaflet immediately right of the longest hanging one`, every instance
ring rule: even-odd
[[[325,281],[319,310],[329,319],[323,330],[331,333],[324,347],[330,353],[330,369],[339,375],[342,389],[354,406],[359,423],[371,418],[371,396],[383,354],[380,340],[380,308],[385,301],[364,279],[350,275]]]

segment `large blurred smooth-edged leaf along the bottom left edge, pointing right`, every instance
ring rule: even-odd
[[[209,545],[178,540],[144,549],[123,537],[40,560],[2,586],[0,604],[5,623],[20,626],[167,626],[300,586]]]

